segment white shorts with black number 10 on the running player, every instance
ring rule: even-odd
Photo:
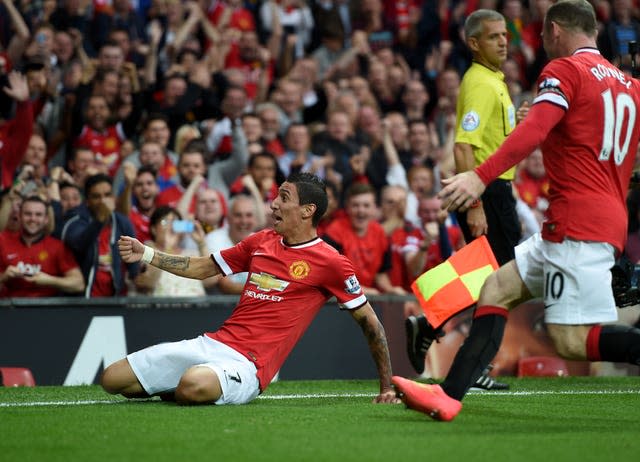
[[[548,324],[598,324],[618,319],[611,289],[615,249],[606,242],[549,242],[536,233],[515,249],[520,277],[542,298]]]

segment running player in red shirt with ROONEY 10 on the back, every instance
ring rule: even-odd
[[[515,259],[485,282],[469,337],[444,382],[393,378],[412,409],[453,419],[498,351],[508,310],[533,297],[544,300],[561,356],[640,365],[640,330],[602,325],[617,320],[610,268],[626,240],[640,83],[600,55],[596,34],[586,0],[553,4],[542,33],[551,61],[529,114],[481,166],[443,181],[443,207],[465,210],[492,179],[540,146],[550,206],[542,233],[516,247]]]

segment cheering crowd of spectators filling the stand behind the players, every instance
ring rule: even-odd
[[[407,293],[462,245],[434,193],[455,168],[464,20],[478,8],[505,16],[519,106],[545,63],[550,3],[0,0],[0,294],[238,293],[242,277],[187,284],[124,265],[115,242],[135,235],[186,255],[232,245],[270,226],[278,185],[300,170],[327,182],[319,232],[369,293]],[[593,3],[601,49],[625,68],[637,2]],[[527,237],[547,204],[539,152],[515,183]],[[42,204],[46,219],[28,225]],[[27,247],[62,240],[77,266],[9,260],[20,234]],[[67,282],[34,278],[36,267]],[[51,290],[35,290],[43,281]]]

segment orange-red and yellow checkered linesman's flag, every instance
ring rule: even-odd
[[[478,301],[482,284],[498,269],[485,236],[474,239],[419,276],[411,289],[434,328]]]

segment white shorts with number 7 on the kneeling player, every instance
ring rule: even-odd
[[[245,404],[260,394],[256,366],[224,343],[201,335],[191,340],[160,343],[127,355],[127,360],[149,394],[175,391],[187,369],[212,369],[222,387],[215,404]]]

